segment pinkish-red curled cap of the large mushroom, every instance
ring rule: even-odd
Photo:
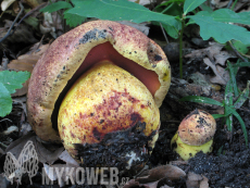
[[[88,22],[60,36],[34,67],[27,111],[39,138],[61,142],[57,117],[66,88],[95,62],[103,60],[135,75],[153,95],[155,104],[162,104],[171,83],[170,64],[162,49],[130,26],[111,21]]]

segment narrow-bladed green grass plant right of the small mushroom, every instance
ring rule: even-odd
[[[209,104],[223,106],[224,114],[213,114],[213,117],[214,118],[225,117],[227,129],[229,131],[233,131],[233,115],[234,115],[241,125],[241,129],[243,131],[243,136],[245,136],[247,146],[248,146],[248,133],[246,129],[246,125],[241,116],[236,112],[236,109],[241,108],[241,105],[249,98],[250,82],[248,82],[247,88],[240,93],[237,87],[235,76],[237,74],[238,67],[249,66],[249,65],[250,65],[250,62],[243,62],[243,63],[238,62],[234,65],[232,65],[230,62],[227,62],[227,70],[229,71],[230,79],[226,85],[223,102],[218,102],[216,100],[205,98],[205,97],[199,97],[199,96],[187,96],[180,99],[180,101],[209,103]],[[234,102],[234,97],[237,99],[235,102]]]

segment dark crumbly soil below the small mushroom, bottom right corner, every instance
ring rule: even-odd
[[[247,188],[250,183],[250,149],[235,153],[208,155],[198,153],[188,161],[189,171],[202,174],[210,180],[210,187]]]

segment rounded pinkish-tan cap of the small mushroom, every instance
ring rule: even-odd
[[[213,138],[215,130],[216,122],[213,116],[196,109],[179,124],[178,136],[186,145],[201,146]]]

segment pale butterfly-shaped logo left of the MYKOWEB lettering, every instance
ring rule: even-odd
[[[22,185],[22,175],[27,173],[30,185],[33,185],[32,177],[37,174],[38,171],[38,156],[35,150],[33,141],[27,141],[22,152],[20,153],[18,160],[8,152],[4,161],[4,176],[8,180],[13,184],[13,179],[16,178],[17,183]]]

